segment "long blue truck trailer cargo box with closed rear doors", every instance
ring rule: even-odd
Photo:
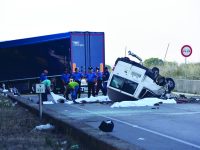
[[[86,72],[89,66],[103,70],[104,65],[103,32],[67,32],[0,42],[0,82],[35,80],[44,69],[57,77],[65,68],[73,72],[79,67]]]

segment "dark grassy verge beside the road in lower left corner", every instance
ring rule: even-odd
[[[0,95],[0,149],[1,150],[83,150],[79,144],[57,128],[36,130],[47,124],[27,109]]]

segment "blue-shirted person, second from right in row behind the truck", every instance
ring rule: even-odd
[[[104,92],[104,89],[102,86],[103,75],[102,75],[102,72],[99,71],[98,67],[96,67],[96,76],[97,76],[96,95],[99,94],[100,89],[101,89],[103,95],[105,95],[105,92]]]

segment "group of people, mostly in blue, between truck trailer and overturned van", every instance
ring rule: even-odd
[[[44,70],[40,76],[40,82],[45,84],[46,92],[42,94],[42,101],[47,101],[47,94],[51,90],[51,80],[47,78],[48,71]],[[92,95],[95,97],[102,91],[103,95],[107,95],[107,82],[110,73],[108,68],[104,68],[104,72],[100,72],[97,67],[95,71],[92,67],[88,68],[88,72],[83,74],[78,68],[75,68],[75,72],[70,73],[69,70],[65,69],[61,75],[62,85],[63,85],[63,96],[69,99],[68,95],[71,94],[71,99],[76,103],[75,99],[81,96],[81,80],[86,79],[88,85],[88,98]]]

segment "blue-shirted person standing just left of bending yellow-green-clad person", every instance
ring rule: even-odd
[[[63,83],[63,96],[66,98],[66,99],[69,99],[69,90],[68,90],[68,84],[69,84],[69,80],[70,80],[70,77],[71,77],[71,74],[68,73],[68,70],[65,69],[64,73],[62,74],[61,76],[61,80],[62,80],[62,83]]]

